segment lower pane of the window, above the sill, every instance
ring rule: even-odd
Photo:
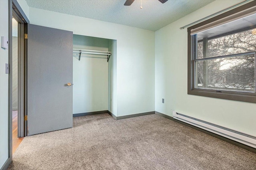
[[[196,61],[196,88],[255,91],[255,54]]]

